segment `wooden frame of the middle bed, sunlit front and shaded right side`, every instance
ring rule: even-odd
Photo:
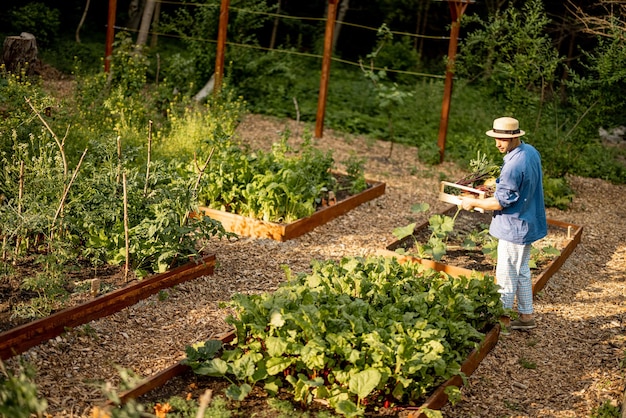
[[[364,191],[348,196],[345,199],[339,198],[335,203],[331,202],[331,204],[320,207],[311,216],[298,219],[288,224],[248,218],[237,215],[236,213],[208,207],[201,207],[200,210],[212,219],[220,221],[224,229],[228,232],[252,238],[269,238],[276,241],[288,241],[306,234],[316,227],[385,193],[385,183],[367,181],[367,184],[369,187]]]

